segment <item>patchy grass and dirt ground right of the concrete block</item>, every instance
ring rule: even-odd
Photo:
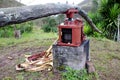
[[[90,38],[90,40],[91,60],[100,80],[119,80],[120,43],[108,39]]]

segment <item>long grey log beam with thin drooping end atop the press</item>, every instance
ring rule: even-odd
[[[65,13],[70,8],[78,8],[81,15],[90,26],[97,32],[99,29],[94,25],[87,14],[77,6],[67,4],[45,4],[23,7],[1,8],[0,9],[0,27],[10,24],[18,24],[42,17]]]

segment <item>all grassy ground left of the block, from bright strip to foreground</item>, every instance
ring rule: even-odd
[[[2,80],[40,80],[40,76],[45,77],[41,72],[16,72],[15,65],[25,61],[24,54],[32,54],[46,50],[57,38],[56,33],[45,33],[40,29],[33,30],[32,33],[25,33],[20,39],[0,38],[0,54],[3,57],[12,56],[14,59],[4,67],[0,68],[0,79]],[[19,55],[19,56],[18,56]],[[0,57],[0,59],[5,59]],[[4,60],[1,65],[4,65]],[[4,72],[7,71],[7,72]],[[53,74],[50,72],[48,73]],[[50,77],[49,77],[50,78]],[[46,80],[46,77],[45,79]],[[52,80],[52,79],[51,79]]]

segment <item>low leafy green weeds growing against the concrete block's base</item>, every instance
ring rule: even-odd
[[[92,80],[94,75],[88,74],[86,69],[74,70],[66,67],[66,72],[62,73],[62,80]]]

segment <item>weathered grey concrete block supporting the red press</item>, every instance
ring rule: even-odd
[[[85,68],[89,60],[89,40],[85,40],[78,47],[53,45],[53,68],[64,70],[69,66],[75,70]]]

